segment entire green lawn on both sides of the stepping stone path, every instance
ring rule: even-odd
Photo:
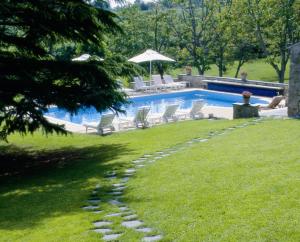
[[[120,174],[143,154],[244,122],[187,121],[107,137],[11,136],[0,145],[1,167],[11,164],[0,173],[0,241],[99,241],[92,222],[116,211],[107,203],[107,171]],[[299,241],[299,145],[297,120],[231,130],[141,168],[124,201],[164,241]],[[9,176],[16,166],[25,172]],[[97,215],[81,209],[96,184]],[[124,232],[120,241],[142,238],[120,218],[106,220]]]

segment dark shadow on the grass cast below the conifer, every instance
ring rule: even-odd
[[[81,214],[93,182],[122,169],[118,159],[132,153],[121,144],[52,151],[0,146],[0,229],[27,229],[49,217]]]

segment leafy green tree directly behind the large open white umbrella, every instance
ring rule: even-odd
[[[170,36],[170,27],[167,23],[168,12],[161,4],[155,3],[151,10],[141,11],[135,4],[118,11],[119,25],[123,34],[109,39],[109,47],[113,52],[132,57],[146,49],[158,52],[168,52],[173,38]],[[148,66],[148,65],[147,65]],[[155,64],[163,74],[161,63]]]

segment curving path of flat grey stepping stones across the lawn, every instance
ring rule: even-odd
[[[247,123],[236,125],[234,127],[229,127],[226,129],[222,129],[219,131],[213,131],[210,132],[207,137],[199,137],[199,138],[193,138],[185,143],[174,145],[173,147],[167,148],[165,150],[157,151],[153,154],[144,154],[139,159],[133,160],[132,164],[133,167],[127,168],[123,175],[117,174],[115,171],[110,171],[105,174],[105,179],[107,179],[108,182],[114,182],[115,180],[120,180],[119,183],[114,182],[112,184],[112,188],[110,191],[108,191],[106,194],[110,196],[110,199],[107,201],[111,206],[119,209],[119,212],[111,212],[108,214],[104,214],[104,217],[108,220],[98,220],[93,223],[94,229],[92,229],[93,232],[102,234],[102,239],[105,241],[113,241],[118,240],[119,237],[122,236],[126,232],[126,229],[133,229],[136,232],[142,233],[143,238],[141,241],[144,242],[151,242],[151,241],[159,241],[163,239],[163,235],[161,234],[153,234],[155,231],[153,228],[147,227],[144,225],[144,222],[138,219],[138,215],[131,211],[129,207],[126,206],[124,202],[122,202],[122,195],[124,193],[124,190],[126,189],[126,183],[128,180],[134,176],[137,172],[137,169],[142,169],[147,166],[147,163],[154,163],[159,159],[162,159],[164,157],[170,156],[171,154],[177,153],[183,149],[187,149],[188,147],[191,147],[192,145],[196,143],[203,143],[208,142],[210,139],[216,136],[226,135],[229,132],[232,132],[239,128],[244,128],[249,125],[256,125],[262,122],[262,119],[255,119],[252,121],[248,121]],[[103,211],[100,209],[99,204],[102,202],[100,198],[98,198],[98,192],[101,188],[100,184],[97,184],[95,186],[95,189],[91,193],[91,198],[87,200],[87,202],[90,205],[83,206],[82,209],[86,211],[90,211],[94,214],[100,214],[103,213]],[[112,218],[120,218],[122,220],[121,225],[124,227],[125,231],[114,231],[114,223],[113,221],[110,221],[109,219]],[[151,233],[151,234],[149,234]]]

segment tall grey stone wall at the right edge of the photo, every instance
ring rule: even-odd
[[[289,117],[300,116],[300,43],[291,47],[291,68],[289,81]]]

